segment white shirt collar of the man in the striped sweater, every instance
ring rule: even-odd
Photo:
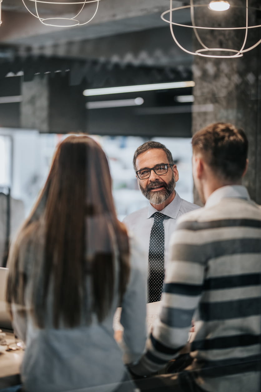
[[[205,203],[205,207],[212,207],[218,204],[221,199],[228,197],[250,200],[247,188],[243,185],[226,185],[211,193]]]

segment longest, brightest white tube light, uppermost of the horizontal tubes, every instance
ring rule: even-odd
[[[134,86],[105,87],[101,89],[87,89],[83,91],[85,96],[105,95],[105,94],[121,94],[135,93],[138,91],[153,91],[165,89],[180,89],[182,87],[194,87],[195,82],[192,80],[186,82],[168,82],[155,84],[141,84]]]

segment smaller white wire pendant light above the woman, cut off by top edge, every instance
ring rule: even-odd
[[[69,1],[55,1],[55,0],[22,0],[23,5],[25,6],[25,8],[27,9],[27,11],[33,15],[35,18],[38,18],[40,20],[40,22],[42,24],[45,24],[47,26],[54,26],[54,27],[73,27],[73,26],[82,26],[85,25],[87,23],[89,23],[94,16],[97,14],[98,11],[98,7],[99,7],[99,2],[101,0],[69,0]],[[0,2],[2,2],[2,0],[0,0]],[[34,5],[34,12],[32,12],[29,9],[29,2],[31,2],[31,5]],[[87,22],[80,22],[78,20],[78,16],[81,14],[81,12],[83,11],[84,7],[86,4],[90,4],[90,3],[96,3],[95,5],[95,10],[94,13],[91,15],[90,19],[87,20]],[[42,17],[40,15],[40,11],[39,11],[39,7],[41,4],[48,4],[48,5],[61,5],[62,11],[65,11],[65,6],[66,5],[79,5],[79,10],[75,13],[74,16],[72,16],[71,18],[68,17],[51,17],[51,18],[46,18],[46,17]]]

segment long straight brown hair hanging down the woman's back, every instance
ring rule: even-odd
[[[38,327],[46,325],[50,290],[55,328],[60,321],[77,326],[83,317],[90,323],[92,313],[101,322],[115,292],[121,301],[130,273],[129,244],[111,188],[108,161],[92,138],[72,135],[58,145],[8,261],[7,301],[25,306],[30,283]]]

